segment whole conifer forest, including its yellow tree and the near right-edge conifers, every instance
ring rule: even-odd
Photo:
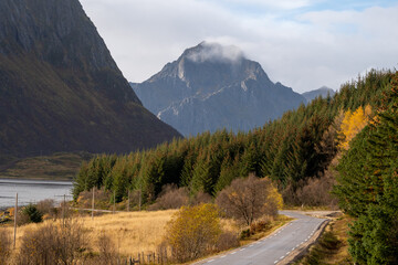
[[[398,263],[398,72],[370,71],[248,134],[219,130],[83,163],[74,198],[92,188],[149,205],[166,184],[217,197],[237,178],[270,178],[287,205],[329,206],[353,218],[357,264]],[[308,192],[310,191],[310,192]],[[332,193],[334,195],[332,195]],[[308,197],[311,198],[308,200]]]

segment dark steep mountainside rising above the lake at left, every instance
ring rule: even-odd
[[[77,0],[0,1],[0,153],[126,152],[179,136],[142,106]]]

